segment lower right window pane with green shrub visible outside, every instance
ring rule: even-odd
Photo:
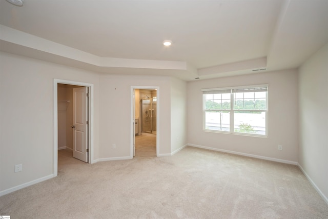
[[[265,135],[265,112],[235,112],[234,131]]]

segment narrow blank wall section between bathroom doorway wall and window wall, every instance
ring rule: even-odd
[[[171,152],[187,144],[187,83],[172,78],[171,84]]]

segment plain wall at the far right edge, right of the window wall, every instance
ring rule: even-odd
[[[298,163],[328,203],[328,44],[299,68]]]

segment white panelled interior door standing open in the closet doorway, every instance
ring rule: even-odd
[[[73,89],[73,157],[88,162],[88,88]]]

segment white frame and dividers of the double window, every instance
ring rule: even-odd
[[[247,110],[247,109],[242,109],[242,110],[237,110],[234,109],[234,92],[233,90],[236,89],[254,89],[254,88],[267,88],[267,93],[265,97],[266,101],[266,109],[265,110]],[[215,93],[215,92],[220,92],[223,90],[230,90],[230,109],[218,109],[218,110],[208,110],[205,109],[205,95],[206,93]],[[201,89],[202,91],[202,112],[203,112],[203,131],[204,132],[216,132],[216,133],[226,133],[226,134],[236,134],[236,135],[247,135],[247,136],[256,136],[256,137],[268,137],[269,133],[269,85],[264,84],[264,85],[251,85],[251,86],[238,86],[238,87],[224,87],[224,88],[210,88],[210,89]],[[230,114],[230,130],[229,131],[221,131],[221,130],[211,130],[211,129],[206,129],[206,112],[207,111],[227,111]],[[256,112],[264,112],[265,113],[265,134],[255,134],[255,133],[244,133],[244,132],[235,132],[235,124],[234,124],[234,113],[236,111],[242,112],[242,111],[256,111]]]

